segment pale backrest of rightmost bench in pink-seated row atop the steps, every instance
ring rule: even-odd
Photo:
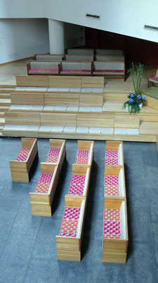
[[[94,61],[94,70],[124,70],[122,61]]]

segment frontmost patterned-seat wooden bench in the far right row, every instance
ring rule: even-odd
[[[103,263],[126,263],[127,246],[126,199],[105,198]]]

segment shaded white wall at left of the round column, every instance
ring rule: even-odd
[[[0,19],[0,64],[47,52],[47,19]]]

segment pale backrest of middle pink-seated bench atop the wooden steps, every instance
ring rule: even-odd
[[[62,61],[62,69],[91,70],[91,61],[84,61],[84,62]]]

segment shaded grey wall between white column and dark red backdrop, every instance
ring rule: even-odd
[[[64,23],[65,49],[72,47],[84,46],[85,28],[81,25],[73,25],[71,23]]]

